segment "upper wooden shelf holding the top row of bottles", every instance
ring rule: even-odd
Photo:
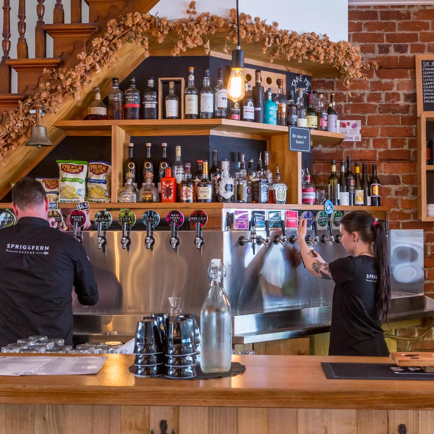
[[[268,140],[273,136],[288,134],[288,127],[230,119],[84,120],[59,121],[55,126],[66,135],[73,136],[111,136],[113,127],[122,128],[129,136],[223,135]],[[345,135],[313,130],[311,138],[314,145],[338,145]]]

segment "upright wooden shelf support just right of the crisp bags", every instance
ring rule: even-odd
[[[124,185],[123,167],[128,158],[130,136],[117,125],[112,126],[112,202],[118,202],[120,188]]]

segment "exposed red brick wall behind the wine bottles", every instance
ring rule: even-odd
[[[351,96],[340,82],[314,80],[312,89],[329,98],[336,93],[343,120],[361,119],[362,141],[322,145],[312,150],[315,182],[324,185],[330,160],[351,155],[352,161],[377,162],[381,204],[391,207],[392,229],[423,229],[425,255],[434,255],[434,225],[417,220],[416,54],[434,53],[433,6],[349,7],[349,41],[360,46],[365,59],[380,69],[368,70],[368,81],[358,80]],[[362,164],[361,164],[362,166]],[[338,169],[339,170],[339,169]],[[354,166],[353,166],[354,171]],[[434,298],[434,257],[425,256],[425,293]],[[401,330],[414,337],[421,329]],[[433,349],[432,334],[414,342],[398,341],[398,349]]]

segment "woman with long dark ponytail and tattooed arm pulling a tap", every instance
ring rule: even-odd
[[[306,220],[297,228],[300,253],[311,274],[335,282],[329,355],[388,356],[381,324],[391,289],[387,237],[378,219],[351,211],[341,220],[341,243],[354,256],[326,263],[306,244]]]

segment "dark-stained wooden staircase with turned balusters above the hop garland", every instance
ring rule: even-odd
[[[29,58],[26,41],[26,0],[12,0],[18,3],[18,32],[16,41],[17,58],[9,56],[10,41],[10,1],[3,1],[3,56],[0,62],[0,121],[3,111],[14,110],[20,100],[33,95],[41,82],[46,81],[44,68],[58,66],[70,68],[77,64],[77,53],[81,53],[94,37],[105,31],[105,23],[119,15],[136,10],[148,12],[158,0],[85,0],[89,5],[89,23],[82,23],[82,0],[56,0],[53,10],[53,23],[44,22],[45,0],[36,0],[38,20],[35,27],[35,58]],[[69,3],[71,23],[65,23],[64,4]],[[34,0],[27,1],[27,6],[34,7]],[[34,13],[34,10],[27,10]],[[46,57],[46,35],[53,38],[53,57]],[[11,93],[11,69],[17,73],[17,93]]]

